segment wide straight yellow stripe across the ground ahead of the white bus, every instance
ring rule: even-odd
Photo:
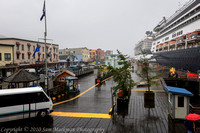
[[[109,114],[100,114],[100,113],[52,112],[50,115],[65,116],[65,117],[104,118],[104,119],[111,118],[111,115]]]

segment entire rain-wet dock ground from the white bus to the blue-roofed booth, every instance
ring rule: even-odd
[[[85,93],[72,101],[55,105],[51,116],[44,119],[32,118],[1,123],[0,132],[185,132],[182,122],[169,124],[168,100],[162,86],[152,87],[155,92],[155,108],[144,108],[143,95],[146,87],[135,87],[132,90],[127,115],[122,116],[115,111],[112,116],[103,118],[102,115],[109,116],[108,112],[112,107],[110,88],[114,85],[114,82],[109,79],[101,87],[94,87],[95,78],[96,74],[80,78],[80,94]],[[133,73],[133,79],[139,81],[135,73]],[[59,116],[58,112],[62,115]],[[92,115],[96,118],[90,117]]]

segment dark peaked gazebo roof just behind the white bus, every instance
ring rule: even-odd
[[[22,82],[32,82],[39,80],[40,77],[32,74],[24,69],[20,69],[13,75],[10,75],[5,81],[9,83],[22,83]]]

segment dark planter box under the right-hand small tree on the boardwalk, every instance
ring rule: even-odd
[[[146,91],[144,93],[144,107],[155,108],[155,93],[153,91]]]

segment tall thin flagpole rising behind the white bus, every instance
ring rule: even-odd
[[[46,91],[48,90],[48,77],[47,77],[47,73],[48,73],[48,71],[47,71],[47,43],[46,43],[46,41],[47,41],[47,12],[46,12],[46,3],[45,3],[45,0],[44,0],[44,12],[45,12],[45,32],[44,32],[44,44],[45,44],[45,67],[46,67],[46,73],[45,73],[45,89],[46,89]]]

